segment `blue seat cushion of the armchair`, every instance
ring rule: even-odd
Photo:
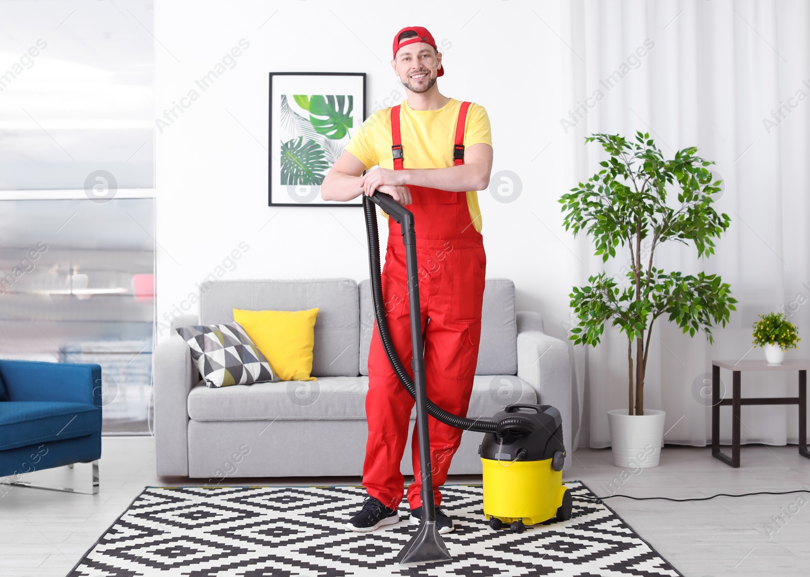
[[[0,404],[0,451],[96,433],[100,410],[92,404],[53,400]]]

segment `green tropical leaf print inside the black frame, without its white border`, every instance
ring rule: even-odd
[[[281,95],[281,184],[320,185],[349,142],[353,96]]]

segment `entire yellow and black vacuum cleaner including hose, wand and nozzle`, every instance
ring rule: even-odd
[[[405,245],[411,309],[412,379],[400,361],[388,331],[375,203],[399,223]],[[445,411],[427,398],[413,213],[379,190],[371,196],[363,196],[363,211],[369,240],[369,271],[377,331],[391,368],[416,402],[424,513],[416,534],[399,552],[399,563],[411,565],[451,558],[436,529],[428,414],[445,425],[485,434],[479,452],[484,472],[484,516],[491,528],[500,529],[509,524],[512,531],[519,533],[526,525],[543,523],[555,515],[559,520],[569,519],[571,494],[562,485],[565,447],[560,412],[547,404],[513,404],[498,412],[492,420],[468,419]]]

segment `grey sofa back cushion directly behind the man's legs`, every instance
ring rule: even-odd
[[[371,281],[361,280],[360,374],[369,374],[369,347],[374,327]],[[518,374],[518,326],[515,321],[514,282],[487,279],[481,306],[481,340],[475,374]]]

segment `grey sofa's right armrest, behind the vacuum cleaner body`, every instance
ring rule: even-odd
[[[573,438],[568,344],[543,331],[518,330],[518,377],[535,389],[539,404],[550,404],[560,411],[565,444],[564,468],[570,468]]]

